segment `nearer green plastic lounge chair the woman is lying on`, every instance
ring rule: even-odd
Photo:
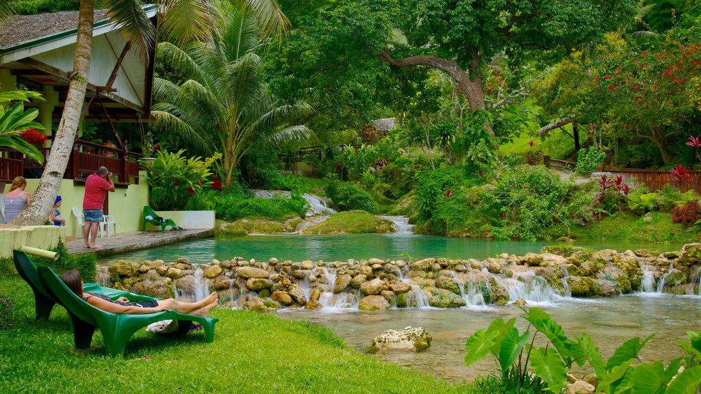
[[[179,333],[188,332],[191,322],[198,322],[205,330],[207,342],[212,342],[215,339],[215,324],[219,321],[217,318],[203,318],[175,311],[145,313],[143,315],[120,315],[105,312],[78,297],[49,267],[41,266],[36,271],[39,273],[44,287],[53,293],[55,299],[61,302],[71,316],[76,348],[90,348],[95,329],[99,328],[107,354],[112,357],[123,355],[127,342],[135,332],[161,320],[177,320]]]

